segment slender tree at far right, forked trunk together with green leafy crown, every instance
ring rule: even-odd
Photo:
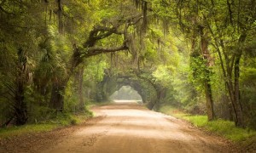
[[[236,126],[244,127],[240,94],[240,61],[242,54],[246,52],[244,44],[250,41],[247,37],[251,37],[253,22],[256,20],[255,1],[238,0],[227,1],[226,5],[213,2],[211,4],[212,9],[210,11],[216,15],[212,16],[212,20],[210,14],[205,13],[203,16],[207,20],[207,28],[212,35],[213,46],[218,52]],[[224,12],[220,13],[214,8]]]

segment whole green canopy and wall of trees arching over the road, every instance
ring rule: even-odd
[[[0,124],[84,111],[134,88],[256,128],[256,0],[2,0]]]

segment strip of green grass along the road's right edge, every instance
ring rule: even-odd
[[[255,130],[236,127],[234,122],[225,121],[222,119],[207,122],[207,116],[189,115],[187,113],[184,113],[183,111],[173,108],[170,105],[162,106],[160,108],[160,112],[189,121],[195,127],[201,127],[206,131],[217,133],[218,135],[224,136],[224,138],[230,139],[236,143],[246,141],[247,139],[253,139],[256,137]]]

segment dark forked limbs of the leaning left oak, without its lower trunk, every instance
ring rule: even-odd
[[[95,56],[97,54],[108,54],[129,49],[128,44],[130,42],[130,37],[127,37],[127,29],[129,26],[137,25],[137,23],[142,19],[142,14],[136,14],[126,18],[125,20],[118,20],[118,23],[114,25],[111,24],[111,27],[94,26],[82,48],[78,48],[76,44],[73,44],[73,59],[70,61],[70,63],[72,63],[72,69],[79,65],[84,58]],[[124,42],[122,45],[113,48],[96,47],[96,42],[113,34],[124,36]]]

